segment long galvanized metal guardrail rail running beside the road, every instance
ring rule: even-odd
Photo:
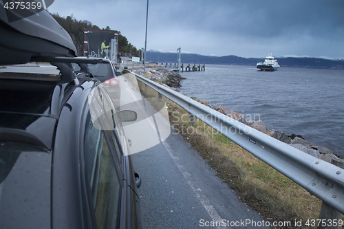
[[[126,72],[344,214],[343,168],[308,155],[143,76]]]

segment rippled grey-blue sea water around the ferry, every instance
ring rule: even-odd
[[[344,158],[344,70],[206,65],[205,72],[181,75],[186,94],[260,116],[270,129],[301,134]]]

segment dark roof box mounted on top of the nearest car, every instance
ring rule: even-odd
[[[69,34],[46,10],[17,21],[9,20],[10,13],[0,1],[0,65],[28,63],[32,57],[77,56]]]

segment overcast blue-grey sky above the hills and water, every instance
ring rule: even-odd
[[[144,47],[146,0],[55,0],[49,12]],[[149,0],[147,50],[344,58],[344,0]]]

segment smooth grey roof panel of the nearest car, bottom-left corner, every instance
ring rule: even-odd
[[[0,142],[0,228],[50,228],[50,168],[39,146]]]

